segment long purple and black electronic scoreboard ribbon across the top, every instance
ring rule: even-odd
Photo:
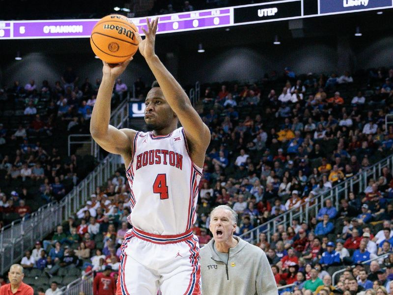
[[[280,0],[160,15],[157,33],[231,27],[393,7],[393,0]],[[155,17],[155,16],[153,16]],[[146,19],[131,18],[146,29]],[[0,21],[2,39],[87,38],[98,19]]]

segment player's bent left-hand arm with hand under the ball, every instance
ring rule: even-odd
[[[90,133],[96,143],[105,150],[120,154],[125,161],[131,161],[132,141],[135,131],[131,129],[117,129],[109,124],[111,118],[111,98],[114,83],[125,70],[132,59],[116,66],[103,62],[103,77],[98,89],[97,101],[94,104],[90,119]],[[128,163],[126,163],[128,164]]]

